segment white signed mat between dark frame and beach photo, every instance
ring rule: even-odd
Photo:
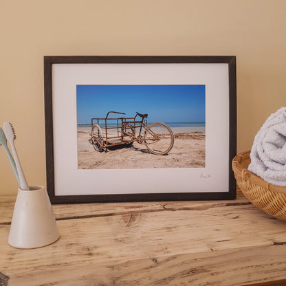
[[[54,195],[228,192],[228,69],[228,63],[54,63]],[[76,85],[205,85],[205,168],[78,169]]]

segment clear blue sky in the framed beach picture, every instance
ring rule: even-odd
[[[148,113],[148,122],[204,122],[205,85],[77,85],[77,122],[105,118],[108,111],[134,117]],[[122,115],[118,115],[121,117]]]

